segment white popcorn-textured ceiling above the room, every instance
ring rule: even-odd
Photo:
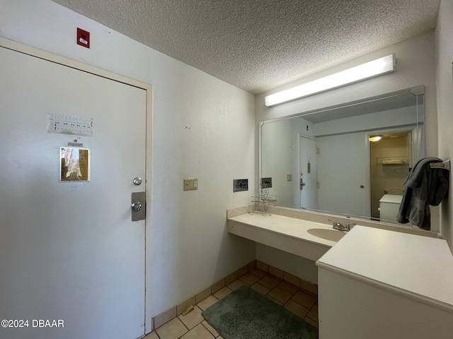
[[[440,0],[53,0],[258,94],[435,28]]]

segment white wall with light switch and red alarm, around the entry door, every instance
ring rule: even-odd
[[[77,27],[91,49],[76,44]],[[251,196],[233,193],[233,179],[256,182],[253,95],[49,0],[0,0],[0,35],[153,85],[147,331],[152,316],[255,259],[253,242],[226,232],[226,209]],[[183,192],[184,177],[198,190]]]

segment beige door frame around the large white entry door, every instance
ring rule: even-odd
[[[151,305],[151,293],[147,294],[147,281],[151,281],[151,269],[147,270],[147,249],[151,248],[151,237],[148,237],[151,234],[151,211],[152,211],[152,200],[151,200],[151,192],[152,192],[152,121],[153,121],[153,112],[152,112],[152,93],[153,88],[152,85],[149,83],[144,83],[142,81],[137,81],[132,78],[127,78],[126,76],[121,76],[116,73],[112,73],[110,71],[106,71],[104,69],[99,69],[96,66],[91,66],[88,64],[84,64],[81,61],[76,61],[73,59],[69,59],[67,57],[62,57],[57,54],[53,54],[51,52],[43,51],[42,49],[38,49],[35,47],[28,46],[26,44],[21,44],[20,42],[16,42],[13,40],[8,40],[4,37],[0,37],[0,47],[11,49],[12,51],[23,53],[30,55],[31,57],[36,57],[39,59],[43,59],[45,61],[50,61],[55,64],[61,64],[63,66],[71,67],[72,69],[77,69],[79,71],[84,71],[86,73],[91,73],[95,76],[101,76],[103,78],[108,78],[112,81],[117,81],[119,83],[125,83],[126,85],[131,85],[136,88],[140,88],[146,91],[146,136],[145,136],[145,148],[146,148],[146,155],[145,155],[145,191],[146,191],[146,199],[147,199],[147,207],[146,207],[146,218],[145,218],[145,232],[144,232],[144,334],[152,331],[151,325],[151,318],[147,321],[147,313],[151,313],[151,307],[149,307],[147,312],[147,305]]]

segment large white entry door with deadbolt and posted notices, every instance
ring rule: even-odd
[[[28,321],[0,338],[144,335],[131,192],[145,186],[146,90],[6,48],[0,65],[0,319]],[[50,114],[91,118],[93,136],[48,133]],[[89,182],[59,182],[68,143],[90,150]]]

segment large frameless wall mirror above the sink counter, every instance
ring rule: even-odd
[[[397,223],[424,149],[423,86],[260,121],[260,177],[278,206]]]

